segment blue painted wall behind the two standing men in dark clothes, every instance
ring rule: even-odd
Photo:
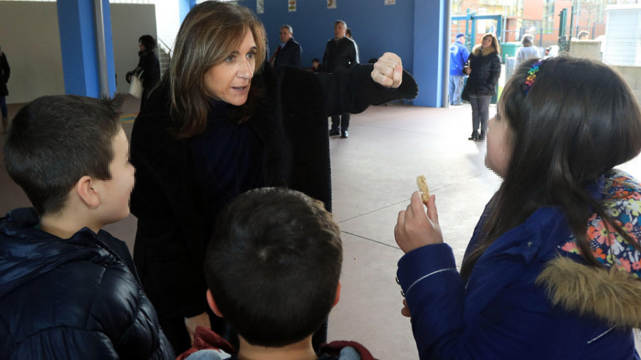
[[[333,38],[334,22],[340,19],[352,30],[361,63],[390,51],[400,55],[404,68],[412,73],[414,2],[397,0],[397,4],[386,6],[383,0],[338,0],[336,9],[327,9],[327,2],[323,0],[298,0],[296,11],[289,12],[288,1],[266,0],[265,14],[258,16],[267,30],[269,55],[280,43],[278,31],[281,25],[287,23],[293,27],[293,36],[303,47],[303,66],[311,67],[311,59],[323,59],[325,43]],[[256,11],[256,1],[239,4]]]

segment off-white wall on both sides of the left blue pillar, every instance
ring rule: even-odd
[[[111,4],[114,63],[119,92],[129,86],[125,74],[138,63],[138,38],[156,36],[155,7],[150,4]],[[0,1],[0,46],[11,78],[9,104],[43,95],[65,93],[55,2]]]

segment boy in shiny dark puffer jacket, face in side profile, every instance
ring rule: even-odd
[[[45,96],[11,122],[4,162],[33,208],[0,218],[3,359],[172,359],[127,245],[134,168],[122,98]]]

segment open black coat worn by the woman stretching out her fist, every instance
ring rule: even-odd
[[[374,83],[371,72],[372,65],[333,74],[264,66],[251,83],[263,90],[264,98],[248,120],[264,142],[264,184],[302,191],[331,210],[328,115],[363,112],[372,104],[417,95],[410,74],[403,75],[400,88],[389,90]],[[205,229],[214,221],[204,217],[204,192],[189,140],[176,139],[170,132],[167,85],[163,79],[152,91],[131,139],[136,167],[131,209],[138,218],[134,260],[161,325],[165,316],[193,317],[207,309]],[[169,337],[169,329],[165,332]]]

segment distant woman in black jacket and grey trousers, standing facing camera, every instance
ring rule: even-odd
[[[489,103],[492,96],[496,94],[496,84],[499,83],[499,75],[501,75],[501,55],[499,53],[501,53],[499,40],[493,33],[486,33],[481,45],[475,46],[469,54],[467,60],[469,65],[463,69],[463,73],[469,75],[463,90],[463,97],[469,97],[469,103],[472,107],[470,140],[485,139]]]

